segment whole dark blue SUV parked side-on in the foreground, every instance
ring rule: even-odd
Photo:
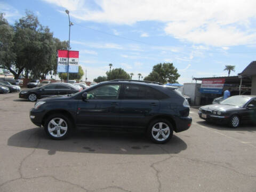
[[[75,127],[146,132],[156,143],[187,130],[189,104],[175,87],[161,83],[116,79],[79,93],[40,99],[30,119],[44,126],[52,139],[66,138]]]

